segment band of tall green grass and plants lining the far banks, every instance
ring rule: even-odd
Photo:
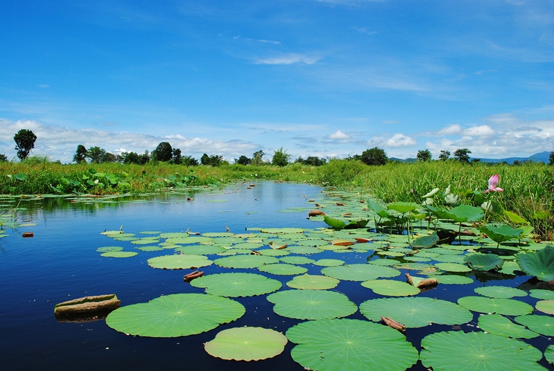
[[[320,166],[278,165],[176,165],[157,162],[61,164],[31,156],[24,161],[0,162],[0,195],[126,194],[165,192],[193,185],[224,185],[236,181],[291,181],[357,190],[383,203],[421,204],[435,188],[450,190],[471,203],[472,195],[487,189],[498,174],[503,192],[494,201],[533,226],[541,239],[552,239],[554,226],[554,167],[544,163],[461,163],[418,161],[366,165],[357,159],[331,159]]]

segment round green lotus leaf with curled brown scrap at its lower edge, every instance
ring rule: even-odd
[[[366,318],[378,322],[389,317],[406,327],[424,327],[429,323],[461,325],[473,315],[467,309],[446,300],[433,298],[380,298],[366,300],[359,306]]]

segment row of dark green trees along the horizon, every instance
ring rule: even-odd
[[[35,147],[35,141],[37,136],[28,129],[21,129],[14,136],[15,141],[15,150],[17,151],[17,157],[19,160],[24,161],[30,152]],[[438,155],[439,161],[459,161],[461,163],[470,163],[470,162],[479,162],[479,159],[470,159],[470,154],[472,152],[467,148],[458,148],[450,155],[450,151],[441,150]],[[283,150],[283,147],[280,147],[278,150],[274,151],[274,155],[271,161],[265,161],[263,157],[265,153],[262,150],[258,150],[252,154],[252,157],[240,156],[238,159],[235,159],[235,163],[239,165],[264,165],[271,164],[277,166],[288,165],[291,159],[291,155],[287,154],[286,150]],[[419,150],[416,155],[417,161],[432,161],[433,156],[429,150]],[[87,161],[87,159],[89,161]],[[368,150],[365,150],[360,155],[355,154],[354,156],[348,157],[348,159],[359,160],[366,165],[384,165],[388,161],[388,156],[386,155],[385,150],[379,147],[373,147]],[[4,154],[0,154],[0,162],[8,161],[8,158]],[[224,163],[229,163],[226,161],[223,156],[217,154],[208,155],[203,154],[200,158],[200,161],[193,158],[193,156],[184,156],[179,148],[173,148],[168,142],[161,142],[152,152],[146,150],[143,154],[138,154],[136,152],[123,152],[122,154],[113,154],[107,152],[101,147],[93,146],[85,147],[84,145],[78,145],[75,154],[73,155],[73,161],[75,163],[110,163],[110,162],[119,162],[119,163],[136,163],[138,165],[145,165],[146,163],[156,163],[158,161],[165,163],[174,163],[177,165],[187,165],[187,166],[196,166],[199,164],[202,165],[211,165],[219,166]],[[550,152],[549,165],[554,165],[554,151]],[[301,163],[304,165],[312,166],[321,166],[327,163],[327,159],[320,159],[317,156],[308,156],[307,159],[302,159],[298,157],[294,163]],[[514,162],[514,165],[518,165],[517,161]]]

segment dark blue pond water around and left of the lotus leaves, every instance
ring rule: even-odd
[[[96,251],[114,242],[100,234],[104,230],[138,233],[146,230],[198,233],[244,233],[251,227],[324,227],[310,221],[305,212],[279,212],[287,208],[310,210],[308,199],[321,197],[321,188],[287,183],[231,185],[219,191],[184,192],[120,198],[115,203],[72,203],[64,199],[19,201],[19,222],[36,223],[6,229],[0,238],[0,355],[3,370],[303,370],[290,356],[293,343],[274,359],[257,362],[223,361],[209,356],[203,343],[217,332],[230,327],[256,326],[285,331],[299,320],[274,314],[265,296],[234,298],[246,307],[246,314],[235,322],[193,336],[180,338],[143,338],[126,336],[105,324],[105,320],[85,323],[58,322],[53,314],[58,302],[83,296],[116,293],[121,305],[148,302],[172,293],[203,293],[183,280],[184,271],[153,269],[146,260],[168,251],[139,252],[130,258],[101,257]],[[193,198],[188,201],[187,197]],[[5,209],[3,209],[5,210]],[[31,231],[32,238],[22,237]],[[139,247],[139,246],[136,246]],[[125,248],[129,250],[129,248]],[[310,257],[308,255],[308,257]],[[361,253],[337,254],[330,251],[315,259],[332,257],[350,263],[364,263]],[[321,274],[321,266],[306,265],[307,273]],[[228,271],[215,264],[202,269],[206,273]],[[238,269],[260,273],[256,269]],[[402,273],[405,273],[402,270]],[[266,274],[267,273],[262,273]],[[292,276],[271,275],[285,282]],[[398,278],[400,279],[400,278]],[[519,276],[503,284],[517,287],[528,277]],[[483,283],[445,285],[422,296],[456,302],[472,295]],[[359,305],[377,298],[360,282],[341,282],[337,291]],[[348,318],[364,319],[359,311]],[[474,321],[476,324],[476,320]],[[464,325],[466,326],[466,325]],[[433,332],[452,326],[434,326]],[[465,329],[465,331],[472,329]],[[420,350],[426,328],[408,329],[406,337]],[[542,341],[542,343],[540,343]],[[539,342],[539,343],[537,343]],[[545,339],[529,341],[544,352]],[[548,341],[551,343],[551,341]],[[392,355],[391,355],[392,356]],[[543,365],[547,365],[542,361]],[[423,370],[418,363],[412,370]]]

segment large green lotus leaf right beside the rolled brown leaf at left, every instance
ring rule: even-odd
[[[125,334],[168,338],[200,334],[244,314],[239,302],[205,293],[176,293],[112,311],[106,323]]]

